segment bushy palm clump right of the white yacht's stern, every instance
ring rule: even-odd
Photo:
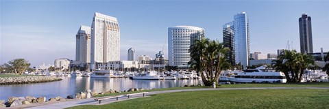
[[[283,72],[287,82],[300,82],[304,70],[314,65],[312,56],[298,53],[296,50],[284,50],[278,60],[272,61],[273,68]]]

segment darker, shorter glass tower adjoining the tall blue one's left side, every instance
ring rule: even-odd
[[[234,22],[228,22],[223,25],[223,44],[224,47],[230,48],[230,51],[226,54],[228,62],[231,65],[235,65],[234,59]]]

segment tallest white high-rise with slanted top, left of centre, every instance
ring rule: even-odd
[[[91,68],[120,61],[120,29],[117,18],[95,12],[91,25]]]

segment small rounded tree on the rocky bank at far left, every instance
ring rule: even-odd
[[[12,70],[15,74],[23,74],[25,69],[31,65],[26,61],[25,59],[14,59],[12,61],[9,61],[8,63],[5,63],[5,66]]]

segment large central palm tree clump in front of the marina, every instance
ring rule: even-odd
[[[197,69],[204,84],[210,86],[212,82],[217,83],[221,70],[230,67],[230,63],[225,58],[228,50],[230,49],[223,47],[223,43],[202,37],[191,45],[191,61],[188,64]]]

